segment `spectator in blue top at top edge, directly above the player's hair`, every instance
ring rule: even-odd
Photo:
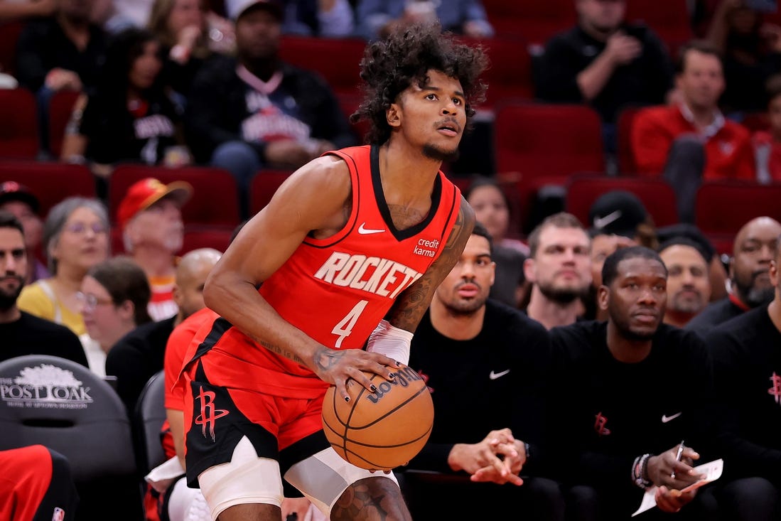
[[[443,30],[473,38],[494,36],[480,0],[358,0],[358,34],[366,40],[387,37],[398,27],[439,20]]]

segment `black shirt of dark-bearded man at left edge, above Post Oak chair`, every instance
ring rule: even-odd
[[[49,355],[89,366],[79,337],[73,331],[30,313],[22,312],[14,322],[0,323],[0,338],[0,361],[24,355]]]

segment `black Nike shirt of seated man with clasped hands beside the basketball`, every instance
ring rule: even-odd
[[[547,330],[500,302],[486,302],[483,329],[465,341],[440,334],[426,312],[412,337],[409,366],[431,390],[434,425],[408,468],[451,472],[454,444],[477,443],[490,430],[508,427],[533,446],[523,473],[533,470],[542,457],[549,362]]]

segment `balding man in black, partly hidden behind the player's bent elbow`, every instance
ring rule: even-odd
[[[137,327],[109,351],[105,372],[116,376],[116,391],[131,415],[144,385],[162,369],[166,341],[173,328],[204,307],[203,286],[221,255],[213,248],[198,248],[183,255],[173,286],[173,300],[179,306],[177,314]]]

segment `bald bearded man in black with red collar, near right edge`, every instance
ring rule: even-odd
[[[769,269],[781,223],[770,217],[751,219],[738,230],[729,262],[729,295],[708,305],[686,324],[686,329],[703,336],[727,320],[773,298]]]

